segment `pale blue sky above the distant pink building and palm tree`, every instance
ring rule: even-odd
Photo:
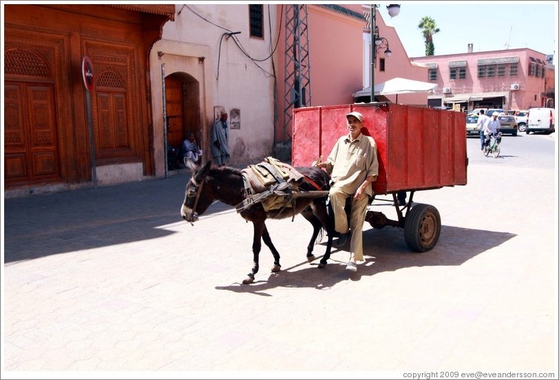
[[[379,12],[396,29],[409,57],[425,56],[425,42],[417,27],[421,18],[434,19],[434,54],[462,54],[472,43],[474,52],[528,47],[553,54],[557,64],[558,1],[401,1],[400,13],[390,18],[386,5]],[[390,43],[390,41],[389,41]]]

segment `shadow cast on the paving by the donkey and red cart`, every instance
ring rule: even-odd
[[[270,296],[269,293],[266,293],[267,290],[278,287],[327,290],[348,279],[358,281],[362,277],[381,272],[398,271],[402,268],[458,266],[476,255],[507,242],[514,236],[516,236],[514,233],[442,226],[441,237],[434,249],[428,252],[415,253],[410,251],[405,244],[403,230],[391,227],[380,230],[368,229],[363,231],[365,262],[359,264],[356,273],[346,271],[347,261],[341,261],[342,259],[347,260],[348,252],[339,252],[339,250],[333,248],[332,257],[324,269],[317,268],[319,259],[322,257],[317,256],[317,259],[310,266],[304,261],[291,267],[282,267],[282,271],[277,273],[264,275],[263,273],[270,269],[262,264],[262,262],[268,264],[268,260],[261,259],[260,272],[257,273],[253,284],[244,285],[242,282],[236,282],[230,286],[216,286],[215,288],[264,296]],[[482,245],[480,242],[485,243]],[[321,245],[324,244],[321,243]],[[342,250],[347,249],[348,246],[346,245]],[[271,266],[271,262],[269,264]],[[263,279],[266,276],[268,277]]]

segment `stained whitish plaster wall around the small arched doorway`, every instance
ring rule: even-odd
[[[261,69],[233,41],[237,38],[245,52],[254,59],[269,56],[277,37],[276,8],[269,8],[272,33],[268,24],[268,5],[264,5],[264,39],[255,39],[249,36],[247,4],[176,5],[175,21],[165,24],[162,39],[154,44],[149,54],[156,176],[165,173],[162,63],[165,63],[165,76],[186,72],[200,83],[200,114],[204,124],[202,128],[205,128],[201,139],[204,154],[211,156],[209,135],[215,106],[224,107],[228,113],[231,109],[240,109],[240,129],[231,129],[229,137],[231,165],[253,162],[271,154],[274,121],[271,59],[256,62]],[[222,38],[226,32],[241,33],[229,39]],[[275,70],[283,68],[275,67]],[[211,157],[206,156],[204,160],[208,158]]]

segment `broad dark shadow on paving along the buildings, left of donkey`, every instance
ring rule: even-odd
[[[189,173],[4,200],[4,262],[138,242],[174,233]],[[213,204],[207,214],[230,207]],[[186,222],[184,222],[186,223]]]

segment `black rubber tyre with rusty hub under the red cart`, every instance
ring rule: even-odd
[[[441,235],[441,215],[430,204],[415,203],[405,215],[403,226],[405,244],[412,251],[430,251]]]

